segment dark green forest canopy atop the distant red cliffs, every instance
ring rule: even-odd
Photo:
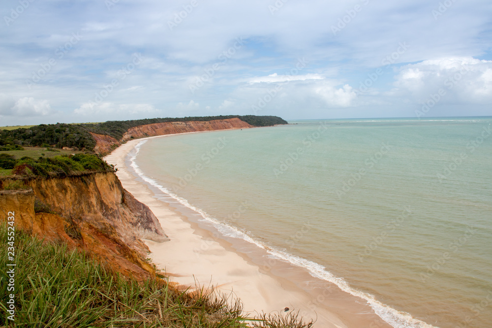
[[[185,118],[157,118],[157,119],[134,119],[126,121],[107,121],[93,124],[40,124],[30,128],[19,128],[15,130],[0,130],[0,146],[54,146],[56,148],[70,147],[92,150],[95,140],[90,132],[106,134],[117,140],[123,138],[123,134],[132,127],[145,124],[161,122],[184,122],[184,121],[210,121],[215,119],[238,118],[253,126],[272,126],[276,124],[287,124],[287,121],[277,116],[254,116],[254,115],[227,115],[207,117],[185,117]]]

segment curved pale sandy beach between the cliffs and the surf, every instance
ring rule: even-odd
[[[252,259],[267,256],[263,250],[243,240],[236,242],[243,242],[243,248],[250,249],[252,254],[237,252],[239,246],[233,247],[234,241],[200,227],[159,199],[149,184],[132,173],[126,159],[128,152],[141,141],[162,137],[167,136],[131,140],[104,159],[116,165],[123,187],[149,206],[170,238],[163,243],[145,242],[152,252],[153,263],[171,281],[191,289],[214,286],[223,294],[240,298],[244,310],[251,315],[299,311],[306,319],[316,320],[317,328],[391,327],[363,299],[313,278],[307,270],[290,263],[275,260],[269,268],[262,267]],[[289,310],[284,312],[287,307]]]

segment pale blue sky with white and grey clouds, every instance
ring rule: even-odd
[[[0,126],[492,116],[490,0],[3,0]]]

